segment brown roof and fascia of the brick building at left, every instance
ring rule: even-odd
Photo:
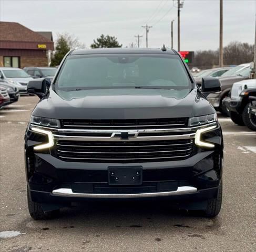
[[[19,23],[0,22],[0,48],[53,50],[54,43]]]

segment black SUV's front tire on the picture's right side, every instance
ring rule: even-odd
[[[204,210],[205,217],[215,217],[219,214],[222,203],[222,181],[219,185],[217,198],[208,199],[206,210]]]

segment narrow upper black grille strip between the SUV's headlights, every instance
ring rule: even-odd
[[[188,118],[128,119],[128,120],[61,120],[63,128],[73,129],[164,129],[186,127]]]

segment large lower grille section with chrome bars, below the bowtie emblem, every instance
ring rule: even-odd
[[[56,140],[54,154],[76,162],[134,163],[183,160],[192,155],[193,141],[65,141]]]

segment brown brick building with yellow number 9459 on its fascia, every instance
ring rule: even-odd
[[[47,67],[54,50],[51,32],[36,32],[13,22],[0,22],[0,67]]]

